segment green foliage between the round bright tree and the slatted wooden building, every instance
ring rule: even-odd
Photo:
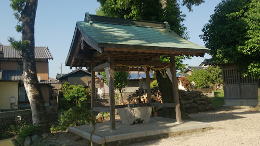
[[[217,84],[218,86],[222,84],[222,69],[219,66],[209,66],[207,71],[210,74],[210,83]]]

